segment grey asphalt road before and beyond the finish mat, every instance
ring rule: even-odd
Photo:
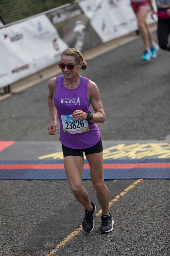
[[[169,142],[169,53],[160,50],[156,59],[143,62],[142,50],[139,37],[89,60],[82,71],[100,90],[106,113],[106,122],[99,124],[104,142]],[[47,82],[0,102],[0,140],[58,142],[59,127],[56,136],[47,134]],[[169,180],[106,180],[106,185],[114,230],[99,234],[100,215],[92,233],[79,230],[84,209],[67,180],[0,180],[0,254],[169,256]],[[83,186],[99,211],[91,181],[83,180]]]

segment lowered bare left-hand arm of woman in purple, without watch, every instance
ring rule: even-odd
[[[57,126],[57,110],[56,107],[54,106],[53,102],[53,95],[55,93],[55,80],[56,78],[53,77],[48,81],[48,97],[47,97],[47,103],[48,103],[48,108],[50,111],[51,115],[51,123],[48,126],[48,134],[49,135],[55,135],[56,126]]]

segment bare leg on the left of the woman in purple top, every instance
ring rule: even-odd
[[[84,158],[81,156],[64,157],[64,168],[68,182],[74,197],[79,201],[86,210],[93,210],[90,204],[89,196],[86,189],[82,186],[82,171]]]

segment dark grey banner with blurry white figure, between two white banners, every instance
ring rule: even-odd
[[[84,51],[101,44],[102,40],[78,4],[46,14],[69,47]]]

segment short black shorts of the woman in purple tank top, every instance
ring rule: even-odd
[[[102,152],[103,146],[100,138],[99,142],[96,145],[89,148],[85,148],[85,149],[69,148],[62,144],[62,151],[63,151],[63,157],[65,156],[82,156],[83,157],[83,152],[85,153],[85,155],[91,155],[91,154]]]

